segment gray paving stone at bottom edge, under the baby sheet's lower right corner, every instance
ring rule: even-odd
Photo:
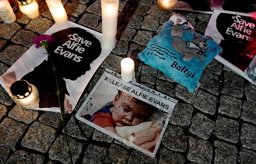
[[[128,159],[127,164],[156,164],[156,163],[157,163],[156,158],[152,158],[152,157],[134,149]]]

